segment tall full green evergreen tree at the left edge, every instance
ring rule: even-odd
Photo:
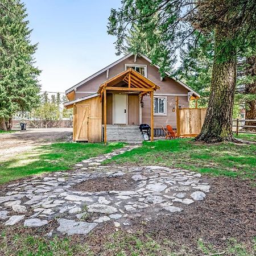
[[[13,114],[39,103],[31,30],[26,8],[19,0],[0,0],[0,129],[10,130]]]

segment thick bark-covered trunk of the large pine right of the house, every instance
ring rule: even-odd
[[[220,45],[223,38],[225,31],[217,29],[208,108],[196,141],[213,143],[235,140],[232,133],[232,114],[236,86],[236,48],[229,48],[229,56],[221,59]]]

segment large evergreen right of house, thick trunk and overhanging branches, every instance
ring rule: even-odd
[[[108,24],[109,34],[117,36],[117,53],[122,51],[127,29],[133,24],[148,39],[155,40],[153,64],[171,59],[195,31],[214,35],[208,109],[196,139],[234,141],[232,112],[237,55],[256,43],[255,0],[123,0],[120,9],[112,9]],[[159,36],[154,37],[152,30]],[[168,63],[162,62],[161,66],[164,71]]]

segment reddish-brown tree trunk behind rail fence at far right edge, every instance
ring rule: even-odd
[[[246,75],[256,76],[256,56],[248,57],[246,60],[246,64],[249,65],[246,71]],[[246,94],[256,94],[256,81],[253,84],[245,85],[245,93]],[[256,119],[256,100],[246,101],[245,102],[245,119]],[[256,126],[255,122],[245,122],[245,125]],[[245,130],[255,131],[256,128],[253,127],[245,127]]]

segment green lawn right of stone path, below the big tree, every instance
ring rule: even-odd
[[[202,144],[192,139],[144,142],[125,154],[105,163],[180,167],[213,175],[255,179],[256,144]]]

